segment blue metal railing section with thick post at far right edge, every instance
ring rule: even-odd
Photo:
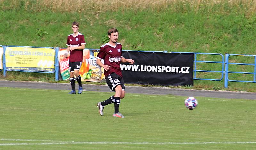
[[[249,56],[249,57],[254,57],[254,64],[249,64],[249,63],[230,63],[229,62],[229,56]],[[252,82],[256,83],[256,55],[238,55],[238,54],[226,54],[225,55],[226,59],[226,67],[225,67],[225,81],[224,81],[224,86],[225,88],[228,87],[228,81],[231,82]],[[233,65],[252,65],[254,66],[254,72],[236,72],[236,71],[228,71],[228,65],[233,64]],[[228,73],[237,73],[237,74],[253,74],[253,81],[243,81],[243,80],[229,80],[228,79]]]

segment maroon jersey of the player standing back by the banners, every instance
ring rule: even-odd
[[[84,35],[78,32],[78,35],[74,37],[73,34],[68,35],[67,46],[79,47],[82,44],[86,44],[84,41]],[[83,50],[70,51],[69,62],[83,61]]]

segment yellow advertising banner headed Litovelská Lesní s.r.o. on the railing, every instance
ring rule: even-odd
[[[54,72],[55,49],[6,47],[6,69],[17,71]]]

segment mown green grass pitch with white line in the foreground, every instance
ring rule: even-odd
[[[113,92],[0,87],[0,149],[255,149],[256,101],[126,94],[125,118],[113,104],[100,116],[97,102]],[[250,143],[251,142],[251,143]]]

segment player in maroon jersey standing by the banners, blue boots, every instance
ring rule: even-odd
[[[83,61],[83,49],[85,48],[85,40],[84,35],[78,32],[79,24],[78,22],[74,21],[72,23],[72,30],[73,34],[68,35],[67,39],[67,52],[65,53],[65,56],[67,57],[68,52],[70,51],[69,56],[69,74],[70,74],[70,84],[72,91],[69,92],[69,94],[76,94],[75,90],[75,81],[78,82],[78,94],[81,94],[83,92],[82,88],[82,82],[81,82],[81,76],[79,75],[79,69],[81,67],[82,61]],[[74,77],[76,75],[76,79]]]

